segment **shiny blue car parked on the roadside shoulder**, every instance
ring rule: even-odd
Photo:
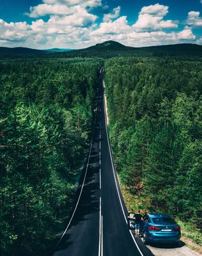
[[[143,217],[143,243],[176,243],[181,237],[180,226],[167,214],[148,213]]]

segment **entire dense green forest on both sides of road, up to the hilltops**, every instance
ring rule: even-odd
[[[64,229],[89,150],[103,66],[121,183],[144,198],[141,209],[168,212],[201,230],[201,53],[191,45],[187,53],[187,46],[184,52],[136,51],[111,44],[37,56],[1,54],[3,256],[41,255]]]

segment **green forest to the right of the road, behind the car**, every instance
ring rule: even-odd
[[[105,62],[110,142],[141,209],[202,227],[202,65],[183,58]]]

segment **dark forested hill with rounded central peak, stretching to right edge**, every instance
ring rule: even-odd
[[[112,57],[152,57],[152,56],[202,56],[202,45],[175,44],[150,47],[129,47],[115,41],[106,41],[85,49],[56,52],[55,57],[64,58],[112,58]]]

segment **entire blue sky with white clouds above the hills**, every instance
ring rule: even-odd
[[[202,45],[202,0],[6,0],[0,46],[78,49],[106,40],[134,47]]]

